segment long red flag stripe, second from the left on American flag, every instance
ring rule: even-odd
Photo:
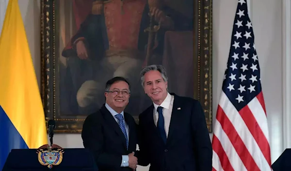
[[[216,119],[220,122],[223,130],[225,131],[227,137],[231,141],[233,147],[235,148],[237,154],[241,157],[242,163],[244,164],[245,168],[248,171],[260,171],[258,165],[256,164],[255,160],[253,159],[252,155],[247,150],[246,146],[244,145],[241,137],[235,130],[232,123],[227,118],[223,109],[218,105]],[[221,157],[218,155],[219,158]]]

